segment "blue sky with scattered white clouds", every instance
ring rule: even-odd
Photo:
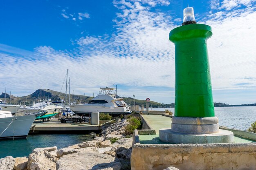
[[[0,90],[22,96],[118,85],[124,97],[174,102],[171,29],[189,4],[209,24],[214,102],[256,103],[255,0],[9,0],[0,5]],[[63,92],[63,91],[62,91]]]

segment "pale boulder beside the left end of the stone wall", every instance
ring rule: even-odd
[[[132,137],[117,140],[112,146],[112,151],[121,152],[124,149],[132,148]]]

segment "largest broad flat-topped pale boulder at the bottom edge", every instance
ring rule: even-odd
[[[64,155],[57,161],[57,170],[120,170],[121,163],[106,154],[77,152]]]

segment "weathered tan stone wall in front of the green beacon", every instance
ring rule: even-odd
[[[135,131],[132,170],[256,170],[256,143],[145,145]]]

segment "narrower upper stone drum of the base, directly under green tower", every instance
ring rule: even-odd
[[[218,122],[218,117],[173,117],[172,130],[194,135],[217,133]]]

